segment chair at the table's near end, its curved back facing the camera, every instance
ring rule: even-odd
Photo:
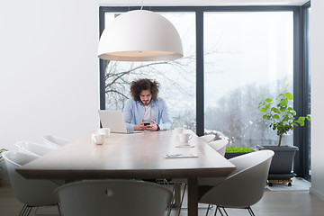
[[[172,196],[164,186],[135,180],[87,180],[54,193],[64,216],[162,216]]]

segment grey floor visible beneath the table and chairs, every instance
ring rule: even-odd
[[[184,203],[185,206],[185,203]],[[14,194],[9,184],[0,184],[0,215],[1,216],[18,216],[23,204],[14,198]],[[205,215],[205,205],[200,205],[204,209],[199,210],[199,215]],[[213,207],[209,215],[213,215],[215,207]],[[266,192],[260,202],[252,206],[256,215],[273,216],[323,216],[324,201],[308,191],[270,191]],[[228,210],[231,216],[248,215],[246,210]],[[58,215],[57,208],[45,207],[37,211],[38,215]],[[33,215],[33,214],[31,214]],[[171,215],[177,215],[177,209],[173,209]],[[183,209],[181,216],[187,215],[187,211]],[[218,215],[220,215],[218,213]]]

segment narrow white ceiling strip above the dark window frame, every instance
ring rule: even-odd
[[[110,6],[233,6],[233,5],[302,5],[310,0],[108,0]]]

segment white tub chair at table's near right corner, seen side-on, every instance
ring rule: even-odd
[[[250,206],[265,193],[274,155],[272,150],[261,150],[229,159],[236,166],[235,171],[215,186],[199,186],[199,202],[215,204],[215,215],[220,209],[228,215],[225,208],[247,209],[254,215]],[[220,214],[223,215],[221,211]]]

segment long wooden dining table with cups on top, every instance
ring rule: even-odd
[[[94,132],[94,131],[92,131]],[[198,178],[229,175],[235,166],[192,130],[189,146],[175,130],[111,133],[103,145],[91,133],[16,169],[29,179],[72,182],[84,179],[186,178],[188,215],[198,215]],[[174,156],[174,157],[167,157]]]

